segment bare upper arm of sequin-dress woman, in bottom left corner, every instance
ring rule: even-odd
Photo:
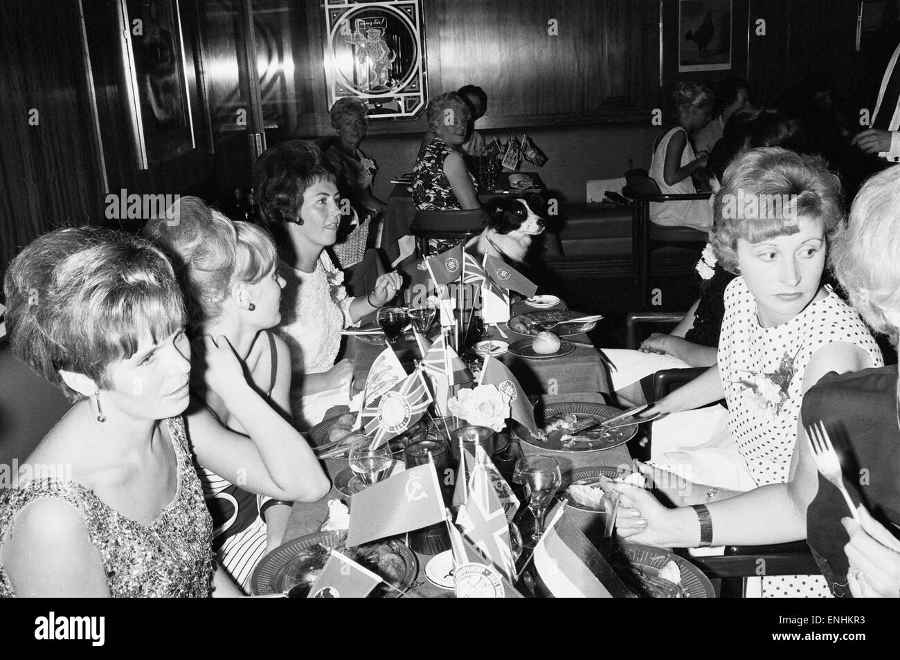
[[[27,598],[108,598],[100,551],[63,500],[40,499],[15,516],[3,547],[15,594]]]

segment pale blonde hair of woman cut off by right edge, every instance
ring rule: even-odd
[[[900,327],[900,167],[888,167],[863,184],[847,227],[834,237],[834,274],[851,304],[878,333],[897,345]]]

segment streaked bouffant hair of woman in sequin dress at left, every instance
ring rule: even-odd
[[[184,326],[171,264],[148,241],[111,229],[58,229],[23,249],[4,278],[14,355],[69,400],[84,398],[59,370],[112,387],[111,365],[149,335]]]

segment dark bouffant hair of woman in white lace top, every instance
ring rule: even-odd
[[[320,181],[335,182],[322,163],[322,152],[312,142],[291,140],[269,147],[253,165],[253,187],[270,230],[302,224],[303,195]]]

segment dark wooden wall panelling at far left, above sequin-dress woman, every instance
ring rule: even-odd
[[[83,53],[75,0],[0,3],[0,277],[23,245],[101,208]]]

